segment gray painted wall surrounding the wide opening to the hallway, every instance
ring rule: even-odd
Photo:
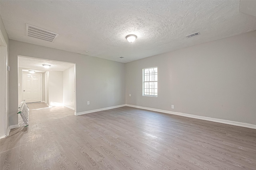
[[[125,104],[125,67],[97,57],[10,40],[10,125],[18,124],[18,55],[76,64],[76,112]],[[90,101],[90,105],[86,102]]]

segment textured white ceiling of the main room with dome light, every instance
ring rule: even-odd
[[[10,39],[127,63],[256,30],[256,17],[239,12],[239,5],[239,0],[1,0],[0,14]],[[60,35],[54,43],[26,37],[26,23]],[[200,35],[185,37],[197,31]],[[134,43],[126,41],[128,34],[138,36]]]

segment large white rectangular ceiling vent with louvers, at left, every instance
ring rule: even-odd
[[[54,42],[58,35],[58,33],[54,33],[52,31],[48,31],[46,29],[35,27],[26,23],[26,36],[28,37]]]

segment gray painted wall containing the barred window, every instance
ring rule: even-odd
[[[126,104],[256,125],[256,31],[125,66]],[[142,96],[142,69],[154,66],[158,97]]]

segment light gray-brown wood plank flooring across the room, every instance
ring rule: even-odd
[[[256,129],[132,107],[75,116],[43,105],[29,104],[29,126],[0,139],[0,170],[256,170]]]

